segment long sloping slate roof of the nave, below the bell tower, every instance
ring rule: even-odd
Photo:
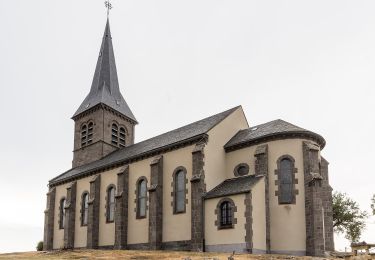
[[[125,164],[131,160],[135,160],[136,158],[150,156],[150,154],[156,154],[158,151],[174,145],[184,144],[189,142],[189,140],[200,140],[205,138],[206,133],[209,130],[211,130],[214,126],[216,126],[238,108],[239,106],[234,107],[173,131],[161,134],[131,146],[124,147],[110,153],[98,161],[73,168],[55,177],[54,179],[50,180],[50,185],[62,183],[76,177],[86,176],[92,172],[106,169],[113,165]]]

